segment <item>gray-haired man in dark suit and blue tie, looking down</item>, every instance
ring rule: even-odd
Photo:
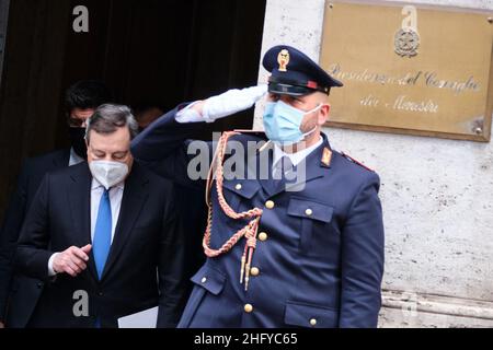
[[[28,327],[116,327],[158,305],[157,325],[176,325],[186,281],[172,187],[134,163],[137,131],[128,107],[102,105],[88,126],[89,164],[45,176],[15,257],[45,281]]]

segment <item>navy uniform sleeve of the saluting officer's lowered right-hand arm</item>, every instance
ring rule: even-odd
[[[340,327],[378,325],[383,275],[383,222],[380,179],[368,173],[351,206],[342,232]]]

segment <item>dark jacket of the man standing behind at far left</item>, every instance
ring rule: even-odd
[[[70,150],[65,149],[28,159],[19,175],[18,187],[0,230],[0,320],[7,320],[8,327],[27,324],[43,290],[39,280],[13,273],[12,256],[25,213],[45,174],[67,167],[69,158]]]

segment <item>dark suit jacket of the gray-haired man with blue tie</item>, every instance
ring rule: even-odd
[[[48,173],[33,201],[19,241],[15,265],[45,281],[30,327],[116,327],[117,318],[159,305],[158,326],[174,327],[181,315],[185,281],[183,244],[170,184],[134,164],[125,182],[118,223],[101,281],[92,253],[76,278],[48,277],[55,252],[91,243],[87,163]],[[89,295],[89,316],[73,313],[77,292]]]

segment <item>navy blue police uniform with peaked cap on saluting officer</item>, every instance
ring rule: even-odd
[[[263,63],[273,73],[270,91],[274,93],[329,93],[331,86],[342,85],[288,46],[267,51]],[[176,122],[181,107],[139,135],[133,153],[165,177],[205,186],[205,179],[187,176],[194,155],[187,154],[190,141],[185,141],[202,126]],[[209,257],[192,278],[195,287],[179,327],[377,326],[383,273],[379,177],[332,150],[326,136],[322,138],[295,167],[305,170],[302,186],[297,189],[299,183],[261,176],[261,159],[266,160],[267,168],[273,167],[270,147],[244,154],[242,175],[253,168],[255,176],[225,174],[222,196],[231,210],[262,210],[248,290],[240,279],[243,237],[228,253]],[[231,141],[251,149],[252,142],[265,142],[265,136],[245,132]],[[249,219],[232,219],[225,212],[216,185],[217,180],[210,191],[213,249],[249,223]]]

